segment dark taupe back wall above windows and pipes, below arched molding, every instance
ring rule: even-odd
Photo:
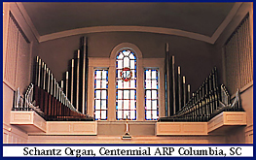
[[[62,73],[68,68],[74,50],[79,48],[82,35],[56,39],[40,44],[38,53],[51,68],[56,80],[62,79]],[[109,57],[111,50],[121,43],[132,43],[142,52],[143,58],[165,58],[165,43],[169,44],[170,55],[175,56],[175,65],[181,66],[181,74],[195,91],[216,66],[221,74],[221,54],[207,43],[178,36],[167,36],[140,32],[91,33],[88,37],[89,57]],[[63,48],[64,47],[64,48]],[[219,77],[220,82],[221,77]]]

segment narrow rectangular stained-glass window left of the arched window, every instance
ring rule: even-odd
[[[107,120],[108,108],[108,70],[94,71],[94,118]]]

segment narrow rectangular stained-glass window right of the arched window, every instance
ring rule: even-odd
[[[159,118],[159,76],[158,69],[146,69],[145,78],[145,119]]]

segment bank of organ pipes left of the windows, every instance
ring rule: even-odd
[[[36,56],[33,83],[23,98],[16,92],[14,111],[35,111],[46,120],[93,120],[87,112],[88,55],[86,38],[64,79],[57,82],[47,64]],[[34,101],[33,101],[34,100]]]

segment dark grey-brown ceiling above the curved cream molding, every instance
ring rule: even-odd
[[[235,3],[22,3],[38,34],[97,26],[171,28],[211,37]]]

